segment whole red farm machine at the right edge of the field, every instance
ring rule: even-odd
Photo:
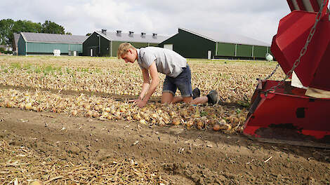
[[[329,0],[287,0],[271,51],[291,81],[258,80],[244,134],[266,142],[330,147]],[[317,93],[315,93],[317,92]]]

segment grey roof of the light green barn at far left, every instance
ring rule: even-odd
[[[82,44],[88,36],[67,35],[67,34],[43,34],[43,33],[20,33],[26,42],[40,43],[78,43]]]

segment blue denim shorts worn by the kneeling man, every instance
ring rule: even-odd
[[[163,93],[172,93],[174,96],[176,89],[180,90],[182,97],[192,97],[192,72],[188,65],[183,67],[183,71],[176,78],[166,76],[163,83]]]

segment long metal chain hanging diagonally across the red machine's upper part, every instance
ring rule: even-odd
[[[273,86],[272,88],[270,88],[268,90],[265,90],[265,94],[266,95],[270,91],[275,91],[280,85],[283,85],[283,83],[286,81],[286,79],[289,78],[289,76],[292,75],[293,70],[296,69],[296,67],[298,67],[299,63],[301,62],[301,57],[303,57],[303,55],[305,55],[305,53],[307,51],[308,44],[310,43],[310,41],[312,40],[312,37],[315,34],[315,30],[316,30],[315,28],[317,26],[317,23],[321,19],[321,13],[322,13],[322,10],[323,10],[325,1],[326,0],[324,0],[322,2],[322,6],[319,8],[319,12],[317,13],[316,18],[315,18],[315,23],[314,23],[312,29],[310,29],[310,34],[308,35],[308,38],[307,38],[306,43],[305,43],[305,46],[301,49],[301,53],[300,53],[300,56],[298,57],[298,59],[293,63],[292,69],[290,71],[288,71],[288,73],[286,74],[286,76],[284,77],[284,79],[282,81],[279,81],[279,83],[277,83],[277,85]]]

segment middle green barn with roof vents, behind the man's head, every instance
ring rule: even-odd
[[[83,55],[85,56],[107,56],[116,57],[117,49],[121,43],[131,43],[136,48],[147,46],[158,46],[162,41],[169,39],[169,36],[157,34],[134,34],[134,32],[124,33],[107,32],[106,29],[96,31],[91,34],[83,43]]]

